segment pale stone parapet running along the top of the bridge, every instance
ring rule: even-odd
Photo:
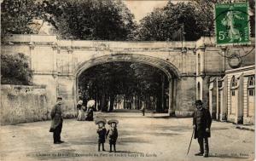
[[[196,42],[156,42],[156,41],[102,41],[102,40],[58,40],[55,35],[8,35],[3,42],[10,43],[57,43],[68,47],[97,47],[97,48],[195,48]]]

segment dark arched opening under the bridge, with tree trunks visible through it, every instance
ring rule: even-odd
[[[150,112],[169,110],[169,80],[159,68],[114,61],[91,66],[79,75],[78,99],[96,101],[96,111]]]

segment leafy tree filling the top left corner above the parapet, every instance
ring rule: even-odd
[[[42,8],[34,0],[3,0],[1,3],[1,34],[30,34],[34,20],[42,18]]]

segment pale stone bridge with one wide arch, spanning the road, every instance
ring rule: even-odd
[[[49,106],[64,99],[72,115],[78,101],[79,75],[106,62],[139,62],[159,68],[169,81],[169,114],[189,116],[195,101],[195,42],[110,42],[59,40],[56,36],[13,35],[3,54],[24,53],[30,60],[32,83],[46,85]]]

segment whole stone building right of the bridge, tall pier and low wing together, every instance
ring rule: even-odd
[[[254,124],[255,51],[252,45],[212,48],[210,38],[198,43],[196,98],[212,118],[235,124]]]

